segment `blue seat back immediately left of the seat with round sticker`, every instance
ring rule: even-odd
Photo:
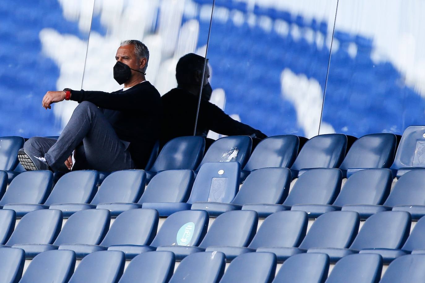
[[[158,221],[158,211],[154,209],[124,211],[113,221],[100,245],[148,245],[156,235]]]

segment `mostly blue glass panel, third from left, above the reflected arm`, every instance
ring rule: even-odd
[[[269,136],[317,135],[336,7],[337,0],[216,0],[211,102]],[[215,132],[249,134],[224,126]]]

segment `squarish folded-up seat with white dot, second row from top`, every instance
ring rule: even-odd
[[[196,176],[187,203],[229,203],[238,192],[240,177],[241,165],[238,162],[205,163]]]

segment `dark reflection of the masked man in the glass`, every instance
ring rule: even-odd
[[[204,57],[194,53],[186,54],[178,60],[176,66],[178,86],[161,97],[164,111],[161,144],[164,145],[175,137],[193,135],[199,93],[201,93],[201,105],[196,135],[206,137],[208,131],[212,130],[227,136],[249,135],[260,139],[267,137],[260,130],[232,119],[223,110],[209,102],[212,88],[208,80],[210,78],[208,65],[205,68],[204,82],[201,86],[204,62]]]

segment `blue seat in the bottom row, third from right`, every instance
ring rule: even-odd
[[[294,255],[282,264],[273,283],[324,283],[328,272],[328,255],[321,253]]]

